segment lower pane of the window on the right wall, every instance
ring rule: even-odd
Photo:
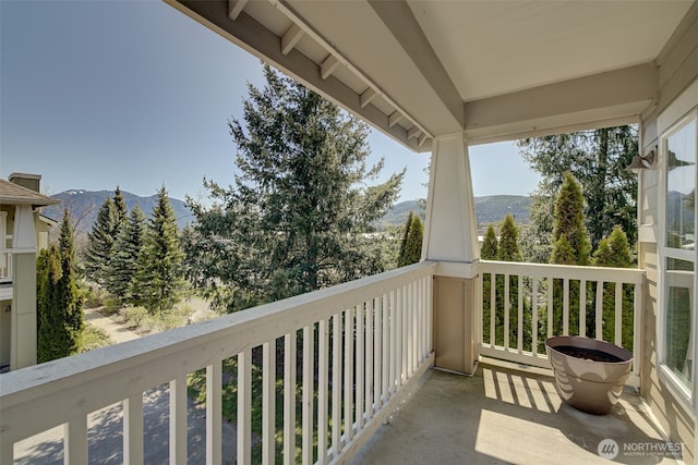
[[[666,260],[666,366],[690,389],[693,379],[694,264]]]

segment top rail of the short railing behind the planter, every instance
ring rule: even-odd
[[[568,278],[587,281],[641,284],[645,270],[638,268],[583,267],[576,265],[525,264],[518,261],[481,260],[481,272],[522,274],[534,278]]]

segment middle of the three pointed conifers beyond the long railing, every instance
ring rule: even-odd
[[[140,301],[140,296],[131,295],[131,282],[139,269],[139,254],[143,247],[145,216],[137,205],[117,235],[113,246],[112,272],[109,277],[109,292],[119,296],[122,303]]]

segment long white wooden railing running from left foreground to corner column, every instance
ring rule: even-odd
[[[143,463],[143,438],[148,433],[144,393],[163,384],[169,388],[170,463],[186,463],[186,379],[203,368],[206,463],[231,461],[234,457],[221,456],[221,391],[224,379],[230,378],[222,367],[231,357],[237,360],[237,379],[231,382],[238,389],[238,463],[251,462],[253,435],[261,438],[263,463],[281,457],[286,464],[345,462],[433,364],[435,267],[422,262],[1,375],[0,463],[13,463],[19,441],[61,425],[64,462],[88,463],[87,418],[115,403],[121,405],[122,461]],[[297,359],[299,344],[302,356]],[[282,368],[276,359],[281,346]],[[260,364],[262,430],[253,432],[257,394],[252,374],[257,371],[252,368]],[[284,401],[277,406],[280,384]],[[302,392],[298,420],[297,388]],[[280,426],[275,421],[277,408],[284,412]],[[302,431],[299,456],[297,427]],[[276,448],[277,429],[282,452]]]

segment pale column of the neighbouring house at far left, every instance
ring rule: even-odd
[[[12,236],[10,369],[36,365],[36,231],[32,206],[16,206]]]

